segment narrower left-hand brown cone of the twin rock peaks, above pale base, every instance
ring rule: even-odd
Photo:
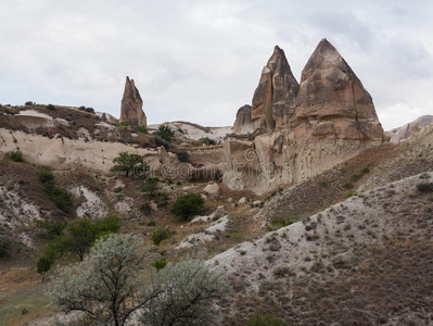
[[[253,97],[255,134],[271,133],[286,125],[294,114],[297,89],[284,51],[275,47]]]

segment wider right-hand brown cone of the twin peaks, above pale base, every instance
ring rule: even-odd
[[[370,93],[327,39],[302,72],[295,111],[298,139],[383,139]]]

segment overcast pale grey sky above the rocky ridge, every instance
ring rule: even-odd
[[[9,0],[0,103],[119,115],[128,75],[148,123],[231,125],[280,46],[295,77],[321,38],[371,93],[385,129],[433,114],[431,0]]]

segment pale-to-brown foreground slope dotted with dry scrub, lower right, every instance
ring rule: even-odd
[[[289,325],[432,324],[433,197],[420,181],[368,190],[213,258],[233,291],[226,323],[262,310]]]

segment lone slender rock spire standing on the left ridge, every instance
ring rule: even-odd
[[[127,122],[133,126],[148,125],[145,114],[143,112],[143,100],[140,97],[133,79],[126,77],[124,97],[120,108],[120,123]]]

